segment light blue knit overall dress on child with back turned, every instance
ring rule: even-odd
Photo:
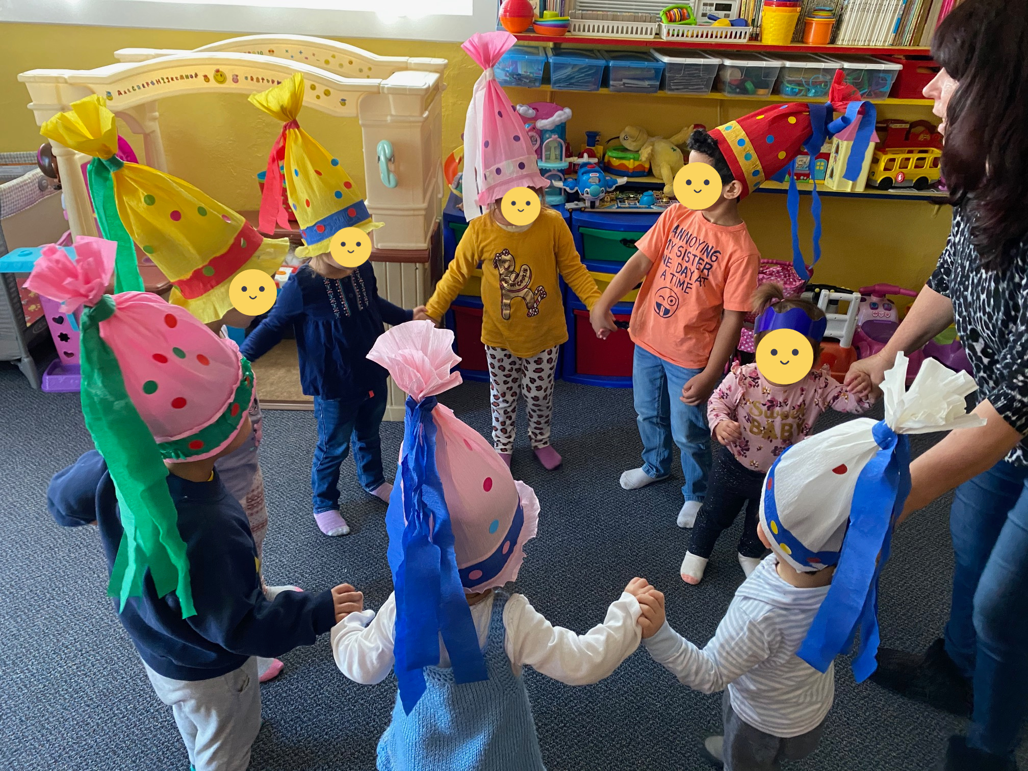
[[[504,651],[506,592],[497,591],[485,642],[489,678],[456,685],[451,669],[425,668],[427,690],[410,714],[399,694],[378,741],[378,771],[546,771],[528,692]]]

